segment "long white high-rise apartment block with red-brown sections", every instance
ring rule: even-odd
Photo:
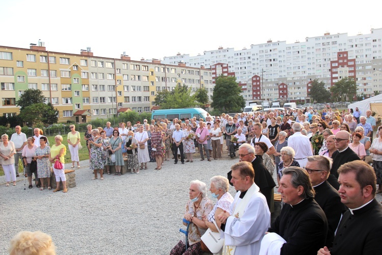
[[[212,70],[215,65],[226,64],[227,72],[234,73],[246,100],[309,100],[309,84],[314,79],[323,81],[329,89],[345,76],[356,80],[357,95],[372,96],[374,91],[382,92],[381,40],[382,29],[355,36],[325,33],[307,37],[304,42],[268,40],[248,49],[220,46],[198,56],[178,53],[164,57],[162,62],[182,61],[187,66],[198,64]]]

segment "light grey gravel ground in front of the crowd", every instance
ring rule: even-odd
[[[238,162],[226,153],[212,162],[194,157],[184,165],[167,161],[159,171],[148,163],[140,174],[106,174],[104,181],[92,181],[89,162],[82,161],[77,186],[68,193],[28,189],[28,181],[24,190],[23,177],[6,187],[0,176],[0,254],[8,254],[9,241],[24,230],[51,235],[57,254],[169,254],[185,237],[179,228],[189,182],[199,179],[209,187],[212,176],[227,176]]]

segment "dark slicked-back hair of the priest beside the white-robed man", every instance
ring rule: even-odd
[[[285,147],[284,147],[285,148]],[[307,171],[305,171],[301,167],[287,167],[283,170],[283,175],[289,174],[291,175],[290,182],[294,188],[297,188],[298,186],[302,186],[304,189],[304,192],[302,196],[305,199],[313,199],[315,192],[312,187],[312,182],[310,181],[309,175]]]

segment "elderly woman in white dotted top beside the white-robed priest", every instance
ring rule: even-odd
[[[215,221],[215,215],[219,215],[223,211],[229,211],[231,203],[233,202],[233,197],[228,193],[229,187],[230,184],[226,177],[216,175],[211,178],[209,190],[212,193],[212,197],[217,198],[217,201],[208,217],[203,217],[203,220],[204,223],[206,223],[206,226],[213,232],[219,232],[219,230],[216,230],[215,224],[213,223]],[[217,225],[219,226],[220,223]]]

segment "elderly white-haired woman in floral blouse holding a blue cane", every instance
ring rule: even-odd
[[[190,182],[188,192],[189,200],[184,214],[184,219],[190,222],[188,229],[188,248],[186,250],[186,244],[181,240],[171,250],[170,255],[181,255],[183,253],[203,254],[200,241],[208,227],[202,218],[208,217],[213,207],[212,201],[206,197],[206,193],[207,186],[205,183],[199,180]]]

